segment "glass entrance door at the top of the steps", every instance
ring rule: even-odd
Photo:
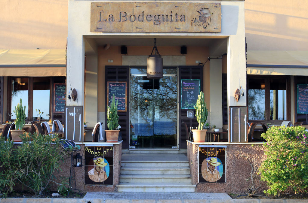
[[[131,68],[130,147],[177,146],[177,69],[163,70],[163,78],[148,79],[146,68]]]

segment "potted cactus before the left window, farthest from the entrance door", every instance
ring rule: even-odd
[[[22,100],[20,99],[19,104],[15,106],[15,110],[13,111],[16,115],[15,119],[15,130],[10,130],[12,134],[12,140],[14,141],[21,141],[20,135],[25,132],[22,129],[25,126],[25,119],[26,119],[26,106],[22,107]]]

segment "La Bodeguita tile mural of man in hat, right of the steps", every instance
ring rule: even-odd
[[[199,183],[225,181],[225,148],[199,147]]]

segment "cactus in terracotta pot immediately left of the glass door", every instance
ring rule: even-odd
[[[117,142],[119,137],[118,130],[118,100],[115,102],[115,95],[112,95],[112,102],[110,106],[107,106],[107,127],[109,130],[105,130],[106,132],[106,141],[107,142]]]

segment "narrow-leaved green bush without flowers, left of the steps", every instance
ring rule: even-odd
[[[36,196],[41,195],[51,183],[58,190],[67,190],[68,180],[55,181],[54,173],[61,171],[61,161],[65,161],[70,150],[63,150],[59,138],[52,135],[21,136],[23,144],[0,139],[0,191],[6,197],[14,190],[15,184],[22,185]],[[68,174],[67,174],[68,176]]]

